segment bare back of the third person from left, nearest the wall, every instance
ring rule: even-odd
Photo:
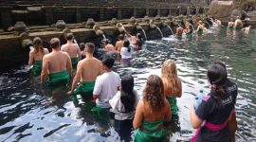
[[[62,51],[67,52],[70,58],[77,58],[81,54],[78,44],[64,44],[62,46]]]

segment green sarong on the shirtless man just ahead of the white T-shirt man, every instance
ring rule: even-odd
[[[93,81],[82,81],[81,85],[78,85],[74,91],[74,95],[92,96],[95,80]]]

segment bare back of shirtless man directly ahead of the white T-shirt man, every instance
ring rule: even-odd
[[[78,64],[77,74],[81,74],[81,81],[92,81],[101,75],[101,61],[96,58],[85,58]]]

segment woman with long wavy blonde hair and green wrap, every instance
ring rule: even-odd
[[[181,80],[177,77],[175,62],[168,60],[162,65],[162,80],[164,84],[164,95],[170,103],[172,115],[177,115],[178,107],[176,98],[182,95]]]

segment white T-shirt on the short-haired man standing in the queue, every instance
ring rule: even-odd
[[[117,94],[119,86],[120,77],[118,73],[111,71],[97,77],[93,91],[94,95],[99,95],[99,98],[96,99],[97,106],[110,108],[108,100]]]

